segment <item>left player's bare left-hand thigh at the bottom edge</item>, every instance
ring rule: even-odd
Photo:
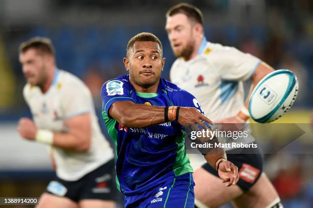
[[[78,208],[78,204],[66,197],[55,196],[49,193],[43,193],[39,199],[36,208]]]

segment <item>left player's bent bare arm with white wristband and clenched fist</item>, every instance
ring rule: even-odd
[[[21,118],[18,132],[26,140],[37,141],[63,149],[87,151],[91,143],[91,114],[84,113],[65,121],[69,131],[54,133],[50,130],[38,129],[28,118]]]

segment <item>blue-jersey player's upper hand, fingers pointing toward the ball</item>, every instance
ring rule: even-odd
[[[202,128],[207,129],[208,127],[202,122],[206,121],[209,124],[213,122],[201,114],[196,108],[180,107],[180,113],[178,115],[178,123],[182,126],[199,124]]]

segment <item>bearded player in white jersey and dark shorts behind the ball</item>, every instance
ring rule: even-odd
[[[214,123],[247,122],[248,100],[243,101],[242,82],[251,79],[255,86],[273,68],[250,54],[208,42],[203,15],[192,5],[178,4],[169,9],[166,18],[165,29],[178,57],[171,67],[171,81],[193,94]],[[254,138],[250,135],[245,142],[253,143]],[[276,190],[262,172],[260,151],[234,152],[238,153],[231,148],[226,151],[228,159],[239,168],[237,186],[223,186],[217,172],[205,164],[194,173],[196,204],[218,207],[232,200],[237,207],[282,207]]]

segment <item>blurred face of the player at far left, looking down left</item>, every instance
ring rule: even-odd
[[[22,65],[23,74],[31,85],[42,85],[48,77],[47,55],[39,54],[36,49],[29,49],[19,54],[19,62]]]

